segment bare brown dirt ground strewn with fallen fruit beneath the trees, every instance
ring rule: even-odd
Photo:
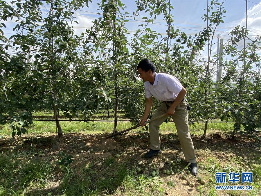
[[[117,136],[115,139],[102,139],[106,136],[108,135],[70,133],[64,134],[62,138],[57,138],[55,135],[48,133],[42,135],[30,133],[17,138],[18,140],[10,137],[2,138],[0,151],[7,155],[12,152],[24,152],[26,156],[30,155],[33,159],[50,157],[51,161],[57,160],[59,153],[63,152],[73,156],[73,162],[71,163],[73,168],[81,168],[92,163],[96,165],[96,169],[99,171],[103,170],[102,163],[105,159],[115,157],[116,154],[120,155],[120,158],[116,158],[119,164],[126,163],[130,169],[133,165],[139,165],[142,168],[141,172],[145,167],[152,168],[156,166],[160,170],[170,168],[170,161],[163,160],[163,157],[168,158],[168,160],[181,158],[178,165],[180,170],[183,170],[188,164],[181,151],[177,134],[167,131],[162,132],[162,153],[149,159],[143,157],[149,149],[148,132],[128,132]],[[240,152],[240,157],[248,164],[256,155],[261,154],[260,147],[257,146],[254,140],[243,136],[237,136],[236,140],[232,140],[228,134],[216,132],[208,134],[205,140],[196,135],[191,135],[191,137],[195,147],[197,163],[206,163],[208,158],[212,157],[216,158],[224,166],[231,157],[238,156],[237,153]],[[160,172],[159,176],[163,181],[161,186],[164,188],[165,195],[198,195],[196,188],[200,185],[199,181],[192,175],[189,175],[186,180],[182,179],[185,171],[173,175]],[[80,170],[76,170],[76,172],[80,172]],[[110,174],[113,175],[113,172],[110,171]],[[61,183],[62,175],[61,170],[56,168],[53,186]],[[209,173],[199,166],[199,175],[204,176],[209,175]],[[187,185],[187,180],[194,182],[195,187],[192,188]],[[175,186],[168,186],[168,181],[172,181]],[[218,193],[218,195],[222,195],[222,192],[219,191]]]

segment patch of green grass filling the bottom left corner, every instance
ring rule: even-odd
[[[0,156],[0,196],[23,195],[32,189],[41,189],[50,182],[55,165],[50,159],[43,161],[24,158],[20,154]]]

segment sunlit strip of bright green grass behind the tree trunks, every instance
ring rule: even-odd
[[[101,113],[99,115],[104,115]],[[52,115],[51,113],[44,112],[35,112],[33,115]],[[98,118],[96,118],[98,119]],[[101,119],[102,120],[102,119]],[[108,118],[107,120],[113,120],[113,118]],[[120,120],[120,119],[119,119]],[[219,119],[213,119],[213,121],[220,121]],[[60,121],[63,133],[111,133],[113,131],[114,123],[113,122],[66,122]],[[133,125],[130,122],[118,122],[117,131],[122,131],[128,129]],[[196,123],[195,126],[190,125],[190,133],[195,135],[202,135],[204,132],[205,123]],[[145,127],[144,127],[145,128]],[[142,127],[134,129],[132,131],[142,130]],[[173,122],[168,122],[161,124],[161,131],[174,131],[176,132],[176,127]],[[233,123],[208,123],[208,130],[220,130],[223,132],[233,131]],[[41,134],[43,132],[56,133],[56,127],[54,121],[34,121],[34,124],[28,129],[29,133]],[[11,135],[12,129],[9,128],[9,125],[0,125],[0,135]]]

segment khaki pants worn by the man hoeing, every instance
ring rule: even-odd
[[[161,103],[157,108],[156,113],[152,116],[151,119],[167,113],[167,106],[170,107],[172,104]],[[185,100],[181,101],[180,104],[175,108],[175,113],[171,116],[179,136],[179,141],[181,144],[182,152],[186,158],[186,161],[189,163],[196,163],[196,155],[193,146],[193,142],[189,133],[188,126],[188,110],[187,103]],[[159,138],[159,125],[161,125],[166,120],[166,117],[157,119],[149,123],[150,127],[150,148],[153,150],[160,149],[160,138]]]

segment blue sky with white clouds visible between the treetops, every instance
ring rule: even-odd
[[[89,4],[89,7],[84,7],[81,10],[75,11],[75,19],[79,24],[74,23],[74,31],[76,35],[79,35],[81,32],[85,32],[86,28],[91,28],[93,25],[92,21],[101,17],[97,13],[102,11],[97,10],[99,6],[97,3],[100,1],[92,1]],[[134,11],[136,11],[136,3],[134,0],[122,0],[122,3],[127,6],[124,12],[127,11],[132,15]],[[210,1],[209,1],[210,4]],[[187,35],[195,35],[199,31],[202,31],[204,27],[206,27],[206,22],[201,20],[201,17],[206,14],[206,10],[204,10],[207,6],[206,0],[172,0],[171,5],[174,7],[171,10],[171,14],[173,15],[174,19],[174,28],[179,28],[181,31],[185,32]],[[224,23],[220,24],[216,30],[214,35],[215,39],[217,36],[224,39],[224,42],[229,39],[228,33],[235,27],[236,25],[245,26],[246,24],[246,1],[245,0],[226,0],[224,2],[226,18],[223,18]],[[49,6],[44,5],[44,9],[48,10]],[[255,35],[261,35],[261,1],[251,0],[248,1],[247,4],[248,8],[248,24],[247,29],[251,32],[249,36],[254,37]],[[143,16],[149,17],[148,13],[141,12],[140,16],[129,17],[129,22],[126,23],[126,28],[131,33],[129,38],[136,32],[139,28],[138,25],[145,24],[145,19],[142,19]],[[6,29],[3,29],[5,35],[7,37],[14,34],[12,28],[15,26],[15,19],[12,21],[6,22]],[[157,33],[161,33],[162,35],[166,35],[166,30],[168,28],[166,22],[163,20],[163,16],[160,15],[154,20],[154,24],[150,24],[148,26],[151,30],[156,31]],[[242,48],[243,42],[239,44],[239,48]],[[213,54],[217,53],[217,45],[213,46]],[[203,56],[207,56],[207,46],[205,47],[204,51],[201,51]],[[261,55],[261,50],[258,51],[258,54]]]

